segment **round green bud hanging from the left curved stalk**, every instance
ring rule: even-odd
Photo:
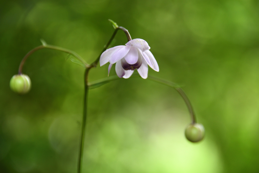
[[[16,74],[10,80],[10,88],[13,92],[26,94],[31,90],[31,79],[26,74]]]

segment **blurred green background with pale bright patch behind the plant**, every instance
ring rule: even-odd
[[[117,80],[89,91],[83,172],[259,172],[256,0],[1,1],[0,172],[76,172],[84,69],[44,49],[24,66],[30,93],[13,93],[9,81],[41,38],[91,63],[113,33],[107,19],[148,42],[160,67],[149,75],[184,86],[206,136],[185,139],[190,117],[174,89]],[[119,31],[111,46],[126,42]]]

